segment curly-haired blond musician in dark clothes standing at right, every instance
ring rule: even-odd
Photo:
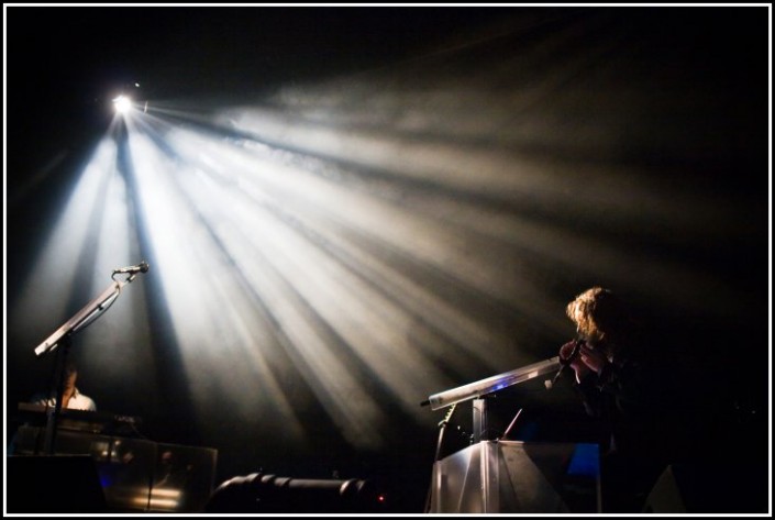
[[[600,430],[604,512],[640,512],[668,463],[660,359],[644,355],[642,332],[611,290],[593,287],[566,307],[577,339],[560,350],[575,372],[573,386]]]

